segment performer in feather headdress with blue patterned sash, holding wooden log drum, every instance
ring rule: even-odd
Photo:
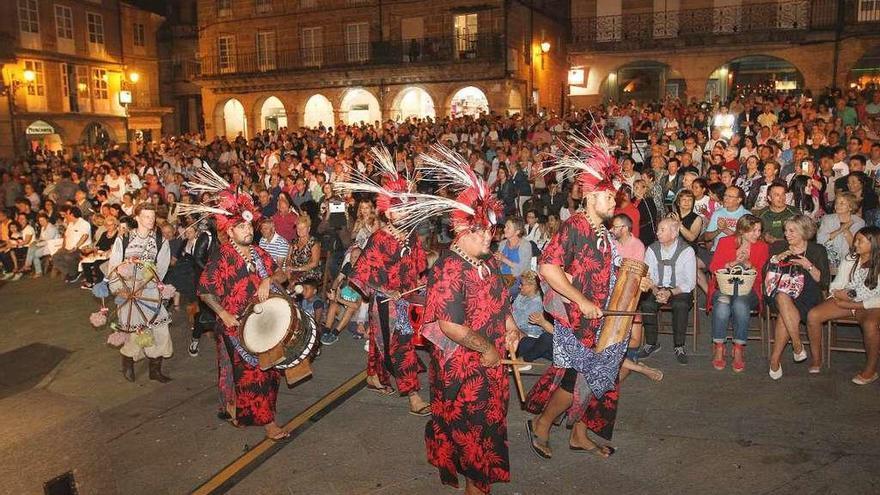
[[[614,453],[587,433],[611,439],[625,352],[625,343],[594,350],[620,264],[604,225],[614,214],[619,168],[604,138],[596,139],[573,135],[544,169],[576,180],[584,194],[582,208],[562,224],[539,261],[540,275],[552,289],[545,291],[544,306],[556,321],[554,365],[529,392],[525,408],[538,414],[527,422],[532,450],[547,459],[552,456],[550,428],[563,413],[572,426],[569,448],[600,457]]]

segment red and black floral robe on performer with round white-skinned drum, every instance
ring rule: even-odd
[[[254,246],[263,266],[271,276],[275,262],[263,249]],[[257,295],[262,277],[249,272],[245,260],[231,244],[220,246],[218,256],[208,262],[199,280],[199,294],[214,294],[223,309],[241,316]],[[220,338],[217,339],[220,400],[223,411],[232,414],[244,426],[265,425],[275,420],[275,399],[281,373],[276,369],[263,371],[248,364],[236,347],[241,348],[239,328],[230,328],[217,318]],[[243,350],[243,348],[241,348]]]

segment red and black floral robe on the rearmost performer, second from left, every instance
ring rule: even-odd
[[[367,240],[350,278],[352,286],[365,299],[372,299],[367,374],[378,376],[385,386],[391,384],[393,374],[402,395],[419,390],[419,358],[413,336],[393,330],[398,318],[409,318],[409,315],[398,315],[394,301],[380,303],[386,296],[376,289],[403,293],[419,286],[421,274],[428,266],[427,257],[415,235],[408,245],[408,249],[403,249],[385,229],[377,230]]]

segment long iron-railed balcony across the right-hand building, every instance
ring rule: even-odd
[[[843,15],[838,15],[839,6]],[[859,0],[794,0],[572,19],[575,50],[664,50],[791,42],[808,33],[866,33],[880,24],[880,10],[859,10]]]

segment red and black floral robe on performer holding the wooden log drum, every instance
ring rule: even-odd
[[[604,240],[600,246],[599,239],[584,214],[572,215],[544,247],[540,263],[561,267],[565,273],[571,275],[571,283],[578,291],[604,308],[611,297],[609,284],[614,268],[609,240]],[[552,292],[552,289],[547,291],[545,307],[548,312],[561,324],[571,328],[581,344],[594,348],[603,320],[585,318],[577,304],[561,305],[558,304],[559,299],[559,294]],[[529,391],[526,410],[540,414],[564,374],[565,369],[550,366]],[[582,380],[582,377],[578,376],[577,380]],[[607,392],[601,399],[590,395],[584,404],[575,400],[568,411],[569,421],[580,420],[597,435],[610,440],[619,396],[620,385],[617,384],[614,390]]]

